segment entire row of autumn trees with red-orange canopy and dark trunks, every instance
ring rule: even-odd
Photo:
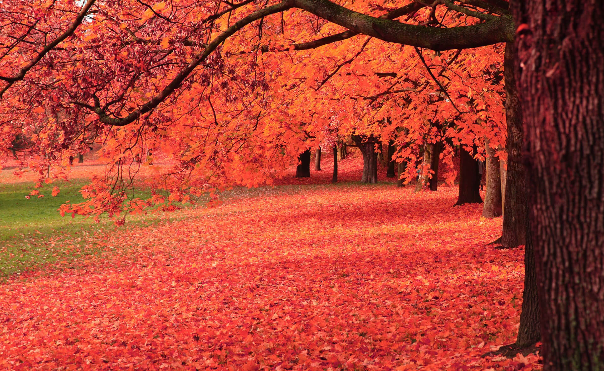
[[[271,183],[309,148],[344,138],[364,156],[365,182],[377,180],[379,142],[396,148],[388,156],[407,182],[419,165],[431,183],[440,155],[451,162],[460,148],[460,201],[477,201],[485,156],[489,212],[498,194],[503,203],[498,242],[525,244],[515,349],[541,338],[544,369],[603,367],[599,0],[0,7],[3,148],[27,136],[60,162],[103,143],[108,173],[63,211],[119,215],[165,201],[127,200],[143,148],[175,160],[155,183],[172,200]],[[48,112],[61,115],[40,127]]]

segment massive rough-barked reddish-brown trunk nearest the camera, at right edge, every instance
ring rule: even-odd
[[[513,3],[544,371],[604,369],[604,2]]]

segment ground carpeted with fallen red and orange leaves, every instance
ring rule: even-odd
[[[234,191],[94,237],[102,256],[0,284],[0,368],[537,368],[480,357],[518,328],[522,250],[484,246],[501,218],[410,188]]]

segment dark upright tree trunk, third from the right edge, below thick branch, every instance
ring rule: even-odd
[[[503,205],[503,230],[498,242],[501,246],[509,248],[524,245],[527,216],[524,211],[524,205],[527,203],[526,170],[522,160],[524,128],[522,128],[522,107],[518,100],[514,74],[515,59],[513,44],[507,43],[504,59],[507,123],[506,197]]]

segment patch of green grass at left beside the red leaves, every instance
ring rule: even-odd
[[[25,196],[33,189],[32,182],[0,184],[0,279],[44,264],[97,255],[103,249],[94,242],[98,238],[91,236],[161,218],[158,214],[128,217],[126,226],[116,227],[110,220],[95,223],[92,218],[61,217],[57,209],[62,203],[83,201],[79,191],[86,183],[84,179],[54,182],[39,189],[44,197],[29,199]],[[61,190],[56,197],[51,196],[53,186]],[[143,192],[139,197],[149,194]]]

